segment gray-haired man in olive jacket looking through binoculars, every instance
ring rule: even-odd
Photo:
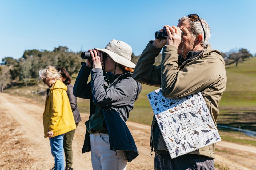
[[[168,98],[200,91],[216,124],[218,105],[226,88],[226,71],[221,53],[212,50],[208,44],[211,36],[209,25],[198,15],[190,14],[179,19],[177,27],[167,25],[164,28],[168,33],[167,39],[155,39],[147,44],[134,69],[133,78],[161,87],[163,96]],[[161,49],[162,62],[156,66],[155,58]],[[214,169],[215,144],[171,159],[155,116],[150,146],[151,151],[155,151],[155,170]]]

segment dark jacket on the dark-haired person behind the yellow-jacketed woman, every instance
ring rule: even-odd
[[[73,95],[73,85],[72,84],[65,84],[67,86],[67,96],[69,97],[69,102],[71,105],[71,109],[74,115],[75,123],[81,121],[80,113],[77,108],[77,97]]]

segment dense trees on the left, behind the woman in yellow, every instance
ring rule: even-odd
[[[13,59],[5,57],[2,64],[9,66],[10,83],[13,85],[18,80],[24,84],[30,81],[30,78],[38,78],[38,72],[48,65],[63,66],[69,71],[70,75],[76,73],[80,68],[80,54],[69,51],[67,47],[59,46],[53,51],[48,50],[25,50],[21,58]],[[16,81],[14,81],[16,80]]]

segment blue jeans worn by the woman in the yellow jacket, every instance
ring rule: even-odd
[[[65,169],[64,154],[63,154],[64,135],[65,134],[49,138],[50,146],[51,146],[51,154],[54,157],[56,170]]]

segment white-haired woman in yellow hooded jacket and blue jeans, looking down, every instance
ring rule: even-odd
[[[39,78],[50,87],[45,101],[43,126],[45,138],[49,137],[51,154],[56,170],[64,170],[63,136],[76,128],[67,96],[67,86],[60,80],[60,73],[53,66],[39,71]]]

